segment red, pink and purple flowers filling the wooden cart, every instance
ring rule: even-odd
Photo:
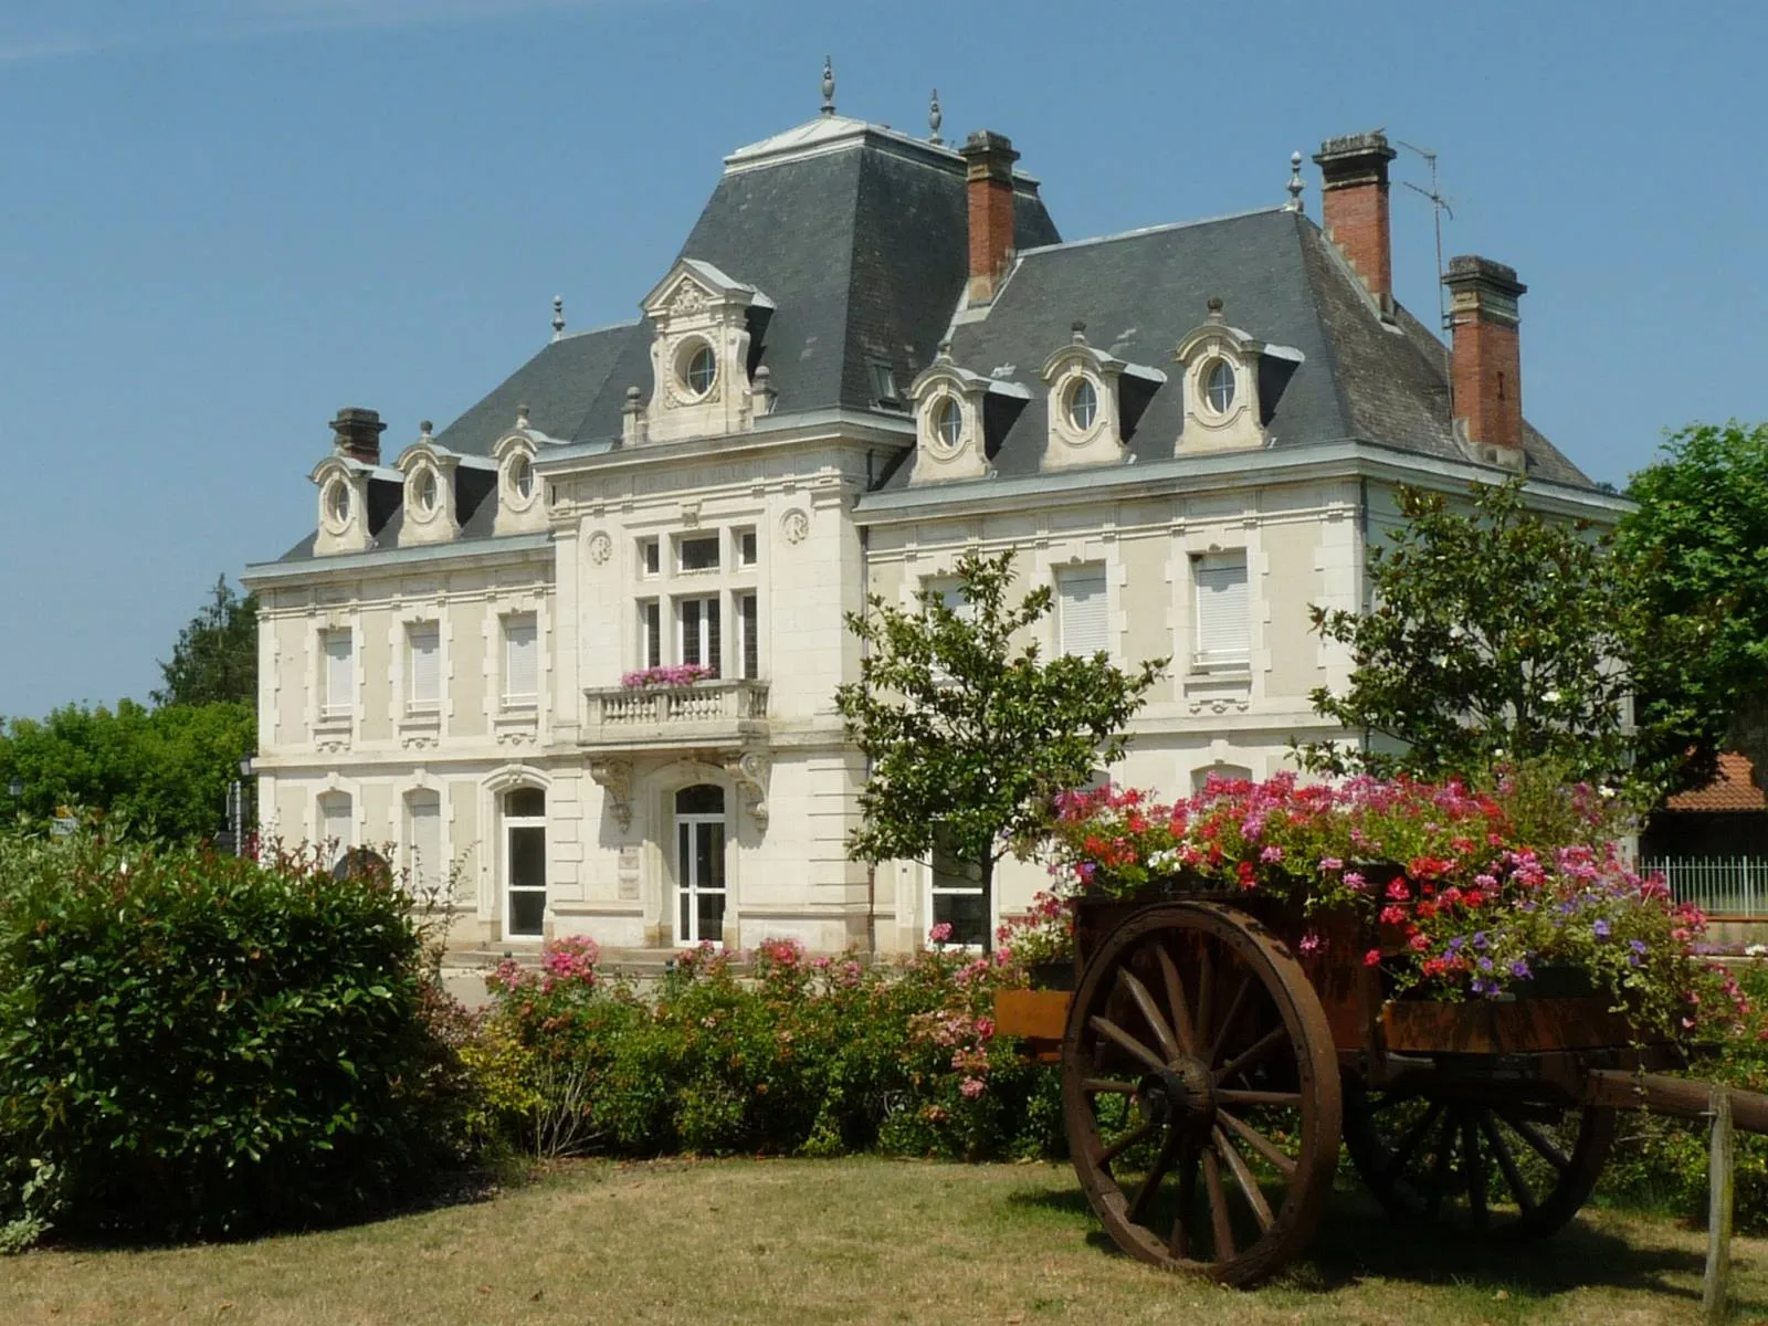
[[[1540,797],[1512,781],[1494,794],[1460,783],[1264,783],[1211,776],[1163,804],[1105,787],[1057,799],[1047,843],[1059,888],[1140,898],[1185,893],[1299,902],[1305,956],[1354,926],[1376,939],[1337,962],[1379,965],[1395,992],[1499,999],[1574,974],[1625,1002],[1639,1025],[1688,1036],[1745,1010],[1736,981],[1701,956],[1706,918],[1657,877],[1627,868],[1604,833],[1609,813],[1588,787]],[[1582,840],[1582,842],[1579,842]]]

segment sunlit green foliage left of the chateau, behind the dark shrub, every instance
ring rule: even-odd
[[[143,709],[67,705],[42,721],[0,721],[0,790],[18,778],[18,806],[41,829],[62,806],[99,812],[113,836],[202,840],[226,824],[228,783],[258,744],[249,704]]]

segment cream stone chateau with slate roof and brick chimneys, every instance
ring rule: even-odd
[[[1064,240],[1008,138],[824,92],[725,157],[635,320],[555,306],[442,430],[338,412],[313,532],[246,575],[267,834],[394,843],[465,948],[976,939],[971,880],[843,850],[866,594],[1015,548],[1047,651],[1172,656],[1110,771],[1170,796],[1326,734],[1308,605],[1365,603],[1395,484],[1618,514],[1522,417],[1512,269],[1448,265],[1450,345],[1393,299],[1379,133],[1321,145],[1319,219],[1296,157],[1278,205]],[[633,684],[670,667],[702,679]]]

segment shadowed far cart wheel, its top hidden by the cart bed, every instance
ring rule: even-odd
[[[1347,1078],[1344,1142],[1395,1220],[1526,1243],[1589,1197],[1614,1144],[1614,1110],[1446,1087],[1367,1091]]]

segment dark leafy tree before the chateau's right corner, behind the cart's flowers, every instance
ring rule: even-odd
[[[1522,504],[1522,479],[1475,484],[1471,509],[1400,488],[1406,523],[1368,552],[1374,606],[1315,606],[1349,645],[1351,686],[1314,709],[1361,748],[1303,744],[1308,767],[1482,778],[1542,762],[1572,778],[1637,781],[1628,730],[1635,621],[1611,536]]]

